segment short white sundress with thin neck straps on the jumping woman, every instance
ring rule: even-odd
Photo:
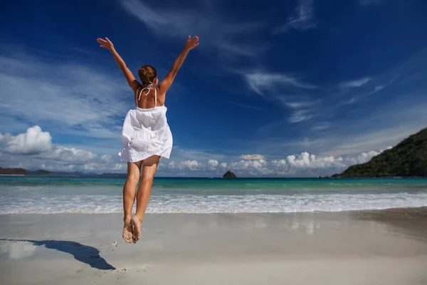
[[[151,90],[150,87],[151,85],[147,88],[142,88],[137,104],[142,91],[144,89]],[[167,124],[167,108],[164,105],[157,106],[157,90],[155,87],[154,92],[154,108],[136,107],[127,112],[122,129],[123,149],[119,152],[120,160],[137,162],[152,155],[169,158],[173,140],[171,130]]]

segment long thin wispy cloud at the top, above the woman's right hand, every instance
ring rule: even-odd
[[[231,23],[216,14],[213,4],[199,10],[154,9],[144,1],[122,0],[122,7],[142,21],[152,33],[168,38],[200,37],[200,48],[210,47],[233,56],[256,56],[265,46],[254,41],[263,25],[255,21]],[[203,11],[202,11],[203,10]]]

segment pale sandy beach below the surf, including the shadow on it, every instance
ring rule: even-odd
[[[427,284],[426,208],[121,219],[0,215],[1,284]]]

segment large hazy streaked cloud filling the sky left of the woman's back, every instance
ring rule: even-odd
[[[119,76],[77,62],[22,55],[0,56],[0,65],[4,67],[0,73],[0,117],[55,126],[57,132],[67,135],[120,137],[116,128],[132,106],[132,91]]]

